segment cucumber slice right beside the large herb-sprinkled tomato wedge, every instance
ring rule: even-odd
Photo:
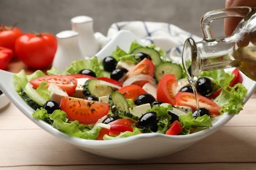
[[[125,98],[125,96],[119,92],[114,92],[110,95],[110,105],[114,107],[114,110],[122,110],[125,112],[129,112],[129,104]]]

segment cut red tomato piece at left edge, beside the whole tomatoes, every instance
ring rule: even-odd
[[[0,69],[5,69],[12,59],[12,50],[0,46]]]

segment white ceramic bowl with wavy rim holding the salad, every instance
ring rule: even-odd
[[[112,39],[112,41],[110,41],[107,46],[98,52],[96,56],[103,58],[110,55],[112,51],[116,49],[117,45],[120,48],[128,51],[131,42],[135,39],[137,38],[132,33],[128,31],[121,31],[116,38]],[[11,99],[12,103],[14,103],[14,105],[16,105],[16,107],[18,107],[23,114],[30,118],[32,122],[37,124],[37,126],[41,127],[45,131],[48,131],[55,137],[63,139],[70,144],[74,144],[74,146],[77,146],[82,150],[109,158],[141,160],[165,156],[167,154],[177,152],[187,148],[188,146],[192,146],[193,144],[198,143],[198,141],[211,135],[217,131],[217,129],[223,127],[224,124],[226,124],[234,116],[234,114],[223,114],[222,116],[219,116],[219,119],[214,122],[212,127],[190,135],[171,136],[160,133],[144,133],[112,141],[79,139],[77,137],[71,137],[66,133],[62,133],[41,120],[33,119],[33,109],[26,105],[25,101],[14,90],[14,85],[12,84],[12,73],[0,71],[0,77],[0,89],[3,90],[5,95]],[[243,78],[243,84],[248,90],[247,96],[244,99],[244,102],[246,102],[253,94],[256,84],[246,76]]]

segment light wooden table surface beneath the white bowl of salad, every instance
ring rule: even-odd
[[[32,72],[19,61],[12,61],[8,70],[20,69]],[[75,148],[33,124],[10,103],[0,110],[0,169],[256,169],[256,94],[226,126],[194,146],[140,161]]]

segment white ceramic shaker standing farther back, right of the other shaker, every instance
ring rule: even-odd
[[[100,46],[93,31],[93,18],[89,16],[75,16],[71,19],[72,30],[79,33],[79,46],[83,57],[94,56]]]

